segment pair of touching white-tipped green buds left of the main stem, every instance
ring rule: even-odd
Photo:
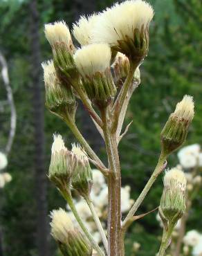
[[[91,192],[93,176],[89,158],[80,145],[73,145],[71,151],[64,145],[60,135],[54,135],[48,177],[59,190],[72,187],[82,196]]]

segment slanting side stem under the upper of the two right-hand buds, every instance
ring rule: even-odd
[[[143,202],[143,200],[145,199],[145,196],[147,195],[147,193],[149,192],[150,188],[152,187],[154,181],[156,181],[158,175],[160,174],[160,172],[162,172],[162,170],[164,169],[165,165],[165,161],[166,161],[166,157],[165,154],[160,154],[160,157],[158,159],[158,164],[156,165],[156,168],[152,174],[152,176],[150,177],[149,181],[147,181],[147,184],[145,185],[145,188],[143,189],[143,191],[140,193],[140,196],[138,197],[138,199],[136,200],[136,202],[134,203],[134,205],[132,206],[131,210],[129,210],[129,213],[127,214],[127,217],[125,218],[125,220],[122,223],[122,229],[125,230],[125,227],[128,226],[128,222],[131,221],[131,218],[134,216],[134,214],[136,213],[136,211],[138,210],[140,204]]]

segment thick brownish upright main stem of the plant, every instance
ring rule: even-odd
[[[120,161],[118,155],[118,145],[116,140],[116,131],[110,129],[110,121],[107,109],[102,110],[102,122],[104,140],[107,149],[109,161],[109,170],[111,171],[107,178],[108,183],[108,252],[109,256],[120,256],[121,254],[121,210],[120,210]]]

